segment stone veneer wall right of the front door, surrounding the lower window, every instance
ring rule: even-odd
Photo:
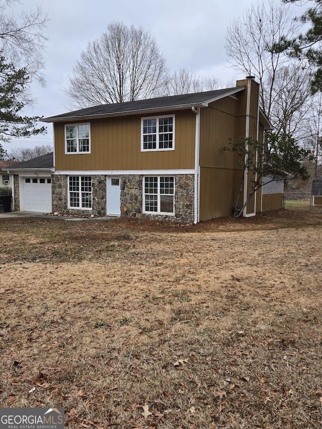
[[[143,176],[121,176],[121,216],[141,219],[194,221],[194,175],[175,175],[175,215],[142,213]]]

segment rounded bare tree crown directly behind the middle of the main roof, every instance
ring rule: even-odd
[[[168,70],[152,36],[120,22],[89,42],[68,76],[68,105],[89,107],[158,96]]]

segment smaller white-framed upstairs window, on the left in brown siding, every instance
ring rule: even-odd
[[[65,153],[91,153],[90,124],[65,125]]]

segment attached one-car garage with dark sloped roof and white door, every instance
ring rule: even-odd
[[[10,168],[14,174],[13,210],[50,213],[53,152],[19,162]]]

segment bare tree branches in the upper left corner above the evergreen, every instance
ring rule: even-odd
[[[47,37],[43,30],[47,15],[40,6],[15,15],[12,7],[19,3],[19,0],[0,0],[0,49],[16,68],[24,68],[30,79],[44,83],[43,51]]]

